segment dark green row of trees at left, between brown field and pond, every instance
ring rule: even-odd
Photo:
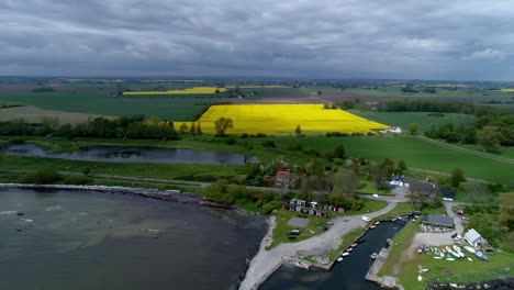
[[[94,118],[87,124],[78,125],[59,125],[56,120],[45,120],[43,124],[23,121],[0,122],[0,135],[178,140],[172,122],[144,121],[143,115],[116,120]]]

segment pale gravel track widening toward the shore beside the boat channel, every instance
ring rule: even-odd
[[[389,202],[388,205],[377,212],[366,214],[369,217],[375,217],[384,214],[396,205],[395,202]],[[246,272],[245,279],[242,281],[241,290],[254,290],[259,287],[275,270],[288,261],[294,261],[299,256],[323,255],[328,250],[336,248],[340,244],[340,237],[357,227],[364,227],[366,222],[362,221],[365,214],[353,216],[339,216],[334,220],[334,225],[322,235],[311,237],[298,243],[286,243],[266,250],[266,246],[270,243],[270,233],[268,231],[262,239],[261,246],[257,255],[252,260]],[[270,222],[273,224],[273,222]]]

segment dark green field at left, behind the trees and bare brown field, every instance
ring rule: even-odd
[[[194,120],[211,101],[205,96],[167,97],[131,96],[112,97],[108,91],[96,92],[9,92],[0,94],[0,102],[15,102],[40,109],[167,120]]]

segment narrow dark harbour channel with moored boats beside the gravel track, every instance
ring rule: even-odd
[[[378,285],[366,281],[372,259],[372,253],[379,253],[402,227],[403,222],[384,222],[369,231],[348,257],[336,263],[331,271],[322,269],[305,270],[293,266],[282,266],[266,280],[259,290],[277,289],[339,289],[339,290],[376,290]]]

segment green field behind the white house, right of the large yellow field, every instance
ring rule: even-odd
[[[459,113],[445,113],[444,116],[431,116],[427,112],[375,112],[359,110],[348,110],[348,112],[390,126],[400,126],[402,130],[406,130],[411,123],[416,123],[420,133],[428,131],[432,125],[469,123],[474,120],[474,116],[471,114]]]

